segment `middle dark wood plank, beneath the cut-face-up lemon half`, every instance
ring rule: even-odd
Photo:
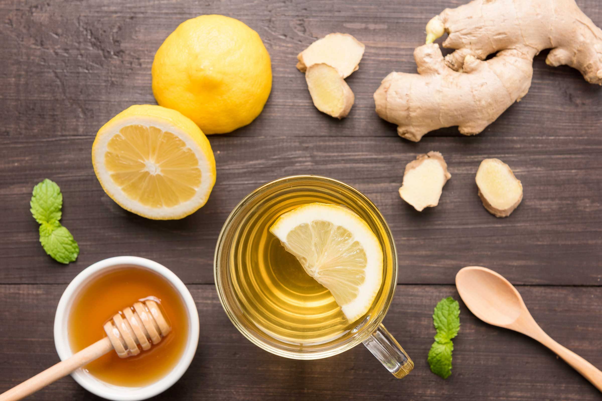
[[[170,222],[140,218],[104,194],[90,166],[92,140],[73,138],[69,150],[54,141],[5,145],[0,237],[9,268],[0,269],[0,283],[68,283],[91,263],[122,254],[164,263],[185,283],[213,283],[217,234],[238,201],[272,179],[308,173],[343,180],[376,203],[396,239],[400,283],[453,284],[459,268],[485,265],[519,284],[602,284],[600,137],[428,138],[412,145],[399,138],[216,137],[213,194],[194,215]],[[443,153],[452,179],[439,206],[418,213],[397,189],[405,164],[429,150]],[[31,154],[42,156],[33,163]],[[474,174],[487,157],[500,157],[523,181],[523,203],[507,219],[489,215],[477,197]],[[67,267],[44,256],[28,210],[31,189],[44,177],[61,186],[63,223],[81,248]]]

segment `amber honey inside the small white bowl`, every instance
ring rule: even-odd
[[[84,370],[108,384],[141,387],[160,380],[176,366],[188,340],[184,301],[163,277],[134,266],[95,277],[79,290],[67,323],[71,349],[78,352],[106,337],[103,325],[107,320],[117,311],[146,299],[160,304],[172,328],[169,334],[138,355],[119,358],[111,351],[84,366]]]

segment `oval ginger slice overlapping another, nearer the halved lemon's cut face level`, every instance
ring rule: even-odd
[[[305,72],[305,81],[318,110],[339,119],[347,117],[355,96],[337,70],[327,64],[314,64]]]

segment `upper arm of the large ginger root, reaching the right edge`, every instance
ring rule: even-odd
[[[468,16],[479,16],[481,25]],[[485,60],[503,49],[552,49],[548,66],[573,67],[589,83],[602,85],[602,29],[574,0],[476,0],[447,8],[438,18],[448,34],[443,47],[460,51],[446,57],[456,70],[468,54]]]

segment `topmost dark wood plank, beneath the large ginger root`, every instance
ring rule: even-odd
[[[93,135],[133,103],[155,103],[151,64],[157,48],[183,20],[199,14],[237,17],[265,41],[274,73],[261,116],[235,136],[396,136],[374,112],[372,95],[391,71],[414,72],[413,51],[424,26],[464,0],[369,3],[216,1],[0,1],[2,139]],[[602,25],[598,0],[579,0]],[[349,118],[335,121],[312,105],[296,55],[329,32],[349,32],[367,45],[361,68],[348,79],[356,95]],[[483,136],[599,135],[602,90],[568,67],[535,62],[533,85]],[[311,121],[311,123],[309,123]],[[430,135],[460,136],[455,128]]]

